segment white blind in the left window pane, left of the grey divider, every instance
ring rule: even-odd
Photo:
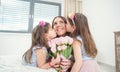
[[[27,31],[30,2],[1,0],[0,30]]]

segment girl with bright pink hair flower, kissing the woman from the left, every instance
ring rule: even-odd
[[[57,54],[56,59],[52,58],[50,61],[48,56],[47,42],[56,37],[55,31],[49,23],[40,21],[40,23],[32,31],[32,44],[24,55],[25,64],[48,69],[60,62],[60,57]]]

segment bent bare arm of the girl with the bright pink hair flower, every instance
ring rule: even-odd
[[[60,62],[60,57],[57,55],[57,58],[52,58],[51,62],[46,63],[46,52],[43,49],[37,49],[36,50],[36,56],[37,56],[37,65],[39,68],[48,69],[54,64]]]

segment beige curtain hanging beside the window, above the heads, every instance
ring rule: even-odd
[[[71,12],[82,12],[82,0],[64,0],[64,16]]]

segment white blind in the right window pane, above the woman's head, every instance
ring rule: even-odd
[[[33,27],[36,26],[36,24],[38,24],[39,21],[41,20],[52,23],[53,18],[58,15],[59,15],[58,6],[35,3]]]

